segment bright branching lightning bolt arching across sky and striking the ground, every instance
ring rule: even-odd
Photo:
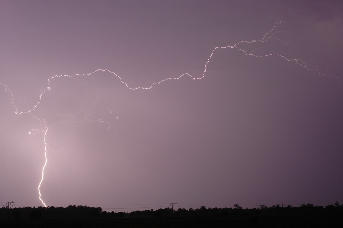
[[[279,23],[280,23],[280,22],[279,22]],[[38,129],[35,129],[35,130],[34,130],[34,129],[33,129],[33,130],[31,130],[31,131],[29,132],[29,134],[43,134],[43,135],[44,135],[44,144],[45,144],[45,153],[44,153],[44,155],[45,155],[45,163],[44,163],[44,166],[43,166],[43,168],[42,168],[42,178],[41,178],[41,180],[40,180],[40,182],[39,182],[39,185],[38,185],[39,200],[40,200],[40,201],[43,203],[43,205],[46,207],[46,204],[44,203],[44,201],[42,200],[42,197],[41,197],[42,194],[41,194],[41,192],[40,192],[40,187],[41,187],[41,184],[42,184],[42,182],[43,182],[43,180],[44,180],[44,169],[45,169],[45,167],[46,167],[46,165],[47,165],[47,161],[48,161],[48,159],[47,159],[47,146],[48,146],[48,145],[47,145],[47,142],[46,142],[46,135],[47,135],[47,132],[48,132],[49,127],[51,127],[52,125],[56,125],[56,124],[63,123],[63,122],[83,122],[83,121],[89,121],[89,122],[91,122],[91,121],[98,121],[98,122],[105,122],[105,123],[109,124],[109,125],[108,125],[108,129],[110,129],[110,124],[111,124],[110,121],[104,121],[104,120],[102,120],[102,119],[91,120],[91,119],[88,118],[90,115],[92,115],[93,108],[94,108],[95,104],[97,103],[97,101],[98,101],[98,99],[99,99],[99,95],[98,95],[98,99],[96,100],[95,104],[93,105],[92,110],[90,111],[90,113],[87,113],[87,114],[86,114],[86,113],[82,112],[83,120],[81,120],[81,121],[80,121],[80,120],[78,120],[78,121],[75,121],[75,120],[68,120],[68,121],[62,121],[62,122],[55,123],[55,124],[52,124],[52,125],[50,125],[50,126],[47,126],[47,125],[46,125],[45,119],[39,119],[39,118],[35,117],[35,116],[33,115],[32,112],[33,112],[33,111],[35,110],[35,108],[40,104],[43,95],[44,95],[48,90],[51,90],[51,87],[50,87],[50,82],[51,82],[51,80],[57,79],[57,78],[60,78],[60,77],[76,77],[76,76],[92,75],[92,74],[94,74],[94,73],[96,73],[96,72],[98,72],[98,71],[107,71],[107,72],[112,73],[112,74],[114,74],[115,76],[117,76],[118,79],[120,80],[120,82],[123,83],[123,84],[125,84],[125,86],[126,86],[127,88],[129,88],[129,89],[132,89],[132,90],[136,90],[136,89],[150,89],[150,88],[152,88],[154,85],[159,85],[159,84],[162,83],[162,82],[165,82],[165,81],[168,81],[168,80],[172,80],[172,79],[178,80],[178,79],[180,79],[180,78],[183,77],[183,76],[189,76],[189,77],[191,77],[191,79],[193,79],[193,80],[203,79],[203,78],[205,77],[205,74],[206,74],[207,65],[208,65],[208,63],[211,61],[212,56],[214,55],[215,50],[217,50],[217,49],[235,48],[235,49],[237,49],[237,50],[243,52],[246,56],[253,56],[253,57],[256,57],[256,58],[271,57],[271,56],[280,57],[280,58],[285,59],[286,61],[295,62],[297,65],[299,65],[299,66],[302,67],[302,68],[307,69],[308,71],[316,71],[316,72],[318,72],[318,74],[319,74],[320,76],[335,77],[336,79],[338,79],[338,80],[341,82],[341,80],[340,80],[340,78],[339,78],[338,76],[335,76],[335,75],[331,74],[331,73],[328,72],[328,71],[322,72],[319,68],[315,67],[314,65],[308,64],[308,63],[304,62],[304,61],[301,60],[301,59],[287,58],[286,56],[281,55],[280,53],[268,53],[268,54],[265,54],[265,55],[257,55],[257,54],[256,54],[256,51],[259,50],[259,49],[266,48],[267,46],[262,46],[262,44],[264,44],[264,43],[266,43],[266,42],[268,42],[268,41],[274,41],[274,42],[279,43],[280,45],[290,45],[290,44],[287,44],[285,41],[283,41],[283,40],[281,40],[281,39],[279,39],[279,38],[276,37],[277,33],[280,32],[280,31],[277,31],[277,29],[276,29],[276,27],[277,27],[277,25],[278,25],[279,23],[274,24],[274,27],[273,27],[268,33],[264,34],[264,36],[263,36],[262,39],[257,39],[257,40],[252,40],[252,41],[243,40],[243,41],[240,41],[239,43],[237,43],[237,44],[235,44],[235,45],[232,45],[232,46],[228,45],[228,46],[223,46],[223,47],[215,47],[215,48],[212,50],[212,53],[211,53],[210,57],[208,58],[208,61],[205,63],[203,74],[202,74],[200,77],[193,77],[193,76],[190,75],[189,73],[184,73],[184,74],[180,75],[179,77],[170,77],[170,78],[164,79],[164,80],[159,81],[159,82],[154,82],[154,83],[152,83],[152,85],[149,86],[149,87],[140,86],[140,87],[137,87],[137,88],[132,88],[132,87],[130,87],[126,82],[124,82],[124,81],[121,79],[121,77],[120,77],[119,75],[117,75],[114,71],[110,71],[110,70],[107,70],[107,69],[98,69],[98,70],[96,70],[96,71],[94,71],[94,72],[91,72],[91,73],[75,74],[75,75],[72,75],[72,76],[69,76],[69,75],[59,75],[59,76],[57,76],[57,75],[56,75],[56,76],[53,76],[53,77],[49,77],[49,78],[48,78],[48,80],[47,80],[47,86],[46,86],[46,88],[45,88],[44,90],[43,90],[43,89],[41,90],[41,93],[39,94],[38,102],[37,102],[34,106],[32,106],[32,108],[28,108],[27,111],[19,111],[19,110],[18,110],[18,107],[16,106],[16,104],[15,104],[15,102],[14,102],[14,95],[13,95],[13,93],[11,92],[11,90],[8,88],[8,85],[4,85],[4,84],[2,84],[2,83],[0,82],[0,85],[2,85],[2,86],[5,87],[4,91],[8,91],[8,92],[10,93],[10,95],[11,95],[11,102],[12,102],[14,108],[15,108],[15,114],[16,114],[16,115],[21,115],[21,114],[23,114],[23,113],[29,113],[29,114],[32,115],[34,118],[36,118],[37,120],[39,120],[39,121],[41,122],[41,124],[42,124],[42,129],[40,129],[40,130],[38,130]],[[249,45],[249,44],[258,44],[258,43],[260,43],[261,46],[260,46],[259,48],[255,49],[255,50],[252,50],[251,52],[248,52],[248,51],[245,50],[244,48],[241,48],[241,47],[240,47],[241,44],[247,44],[247,45]],[[0,105],[1,105],[1,104],[0,104]],[[110,113],[113,113],[113,112],[110,112]],[[55,114],[54,114],[54,115],[55,115]],[[76,115],[78,115],[78,114],[76,114]],[[74,115],[73,117],[75,117],[76,115]],[[55,115],[55,116],[56,116],[56,115]],[[67,116],[72,116],[72,115],[67,115]],[[64,116],[64,117],[67,117],[67,116]],[[116,116],[116,119],[117,119],[117,118],[118,118],[118,117]]]

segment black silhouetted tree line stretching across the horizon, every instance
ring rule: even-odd
[[[313,204],[301,204],[299,207],[273,205],[267,207],[265,205],[257,205],[256,208],[242,208],[238,204],[234,208],[178,208],[175,209],[166,207],[157,210],[147,209],[145,211],[133,212],[106,212],[100,207],[75,206],[67,207],[21,207],[21,208],[0,208],[0,220],[39,220],[39,219],[83,219],[83,218],[163,218],[163,217],[246,217],[255,223],[259,217],[275,216],[275,215],[291,215],[291,216],[342,216],[343,204],[336,202],[331,205],[314,206]]]

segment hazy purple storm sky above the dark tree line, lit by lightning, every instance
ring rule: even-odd
[[[45,143],[47,206],[343,202],[342,37],[341,1],[0,0],[0,205]]]

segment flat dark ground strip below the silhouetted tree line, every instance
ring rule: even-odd
[[[0,228],[60,228],[60,227],[343,227],[343,217],[323,216],[260,216],[249,217],[189,217],[189,218],[89,218],[51,220],[2,220]]]

